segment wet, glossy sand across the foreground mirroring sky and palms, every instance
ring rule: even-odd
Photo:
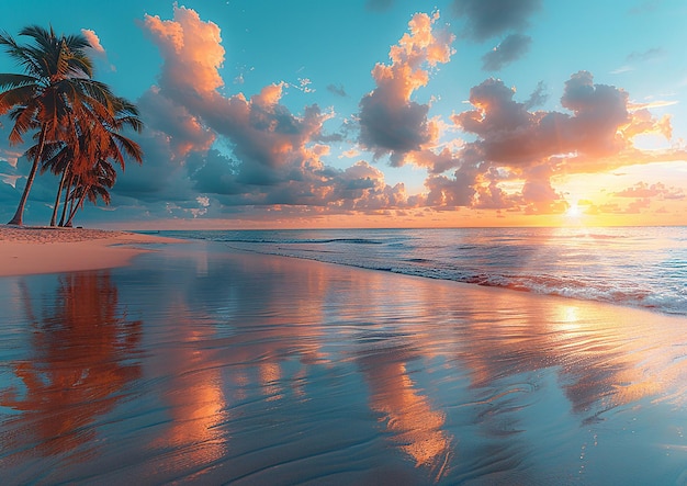
[[[683,316],[216,241],[20,236],[1,245],[113,259],[0,279],[7,484],[687,478]]]

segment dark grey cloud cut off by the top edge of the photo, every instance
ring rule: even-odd
[[[466,19],[465,36],[482,42],[527,29],[541,4],[541,0],[453,0],[453,12]]]

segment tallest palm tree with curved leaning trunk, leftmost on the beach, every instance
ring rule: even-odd
[[[37,129],[37,149],[26,185],[14,217],[9,224],[21,225],[29,192],[36,176],[46,144],[74,143],[78,125],[89,114],[105,116],[112,113],[113,95],[110,89],[92,78],[92,61],[86,49],[89,42],[82,35],[61,35],[33,25],[20,35],[33,43],[20,45],[9,34],[0,34],[0,46],[24,69],[25,74],[0,74],[0,115],[10,113],[14,125],[10,144],[23,143],[22,135]],[[78,121],[81,121],[77,123]]]

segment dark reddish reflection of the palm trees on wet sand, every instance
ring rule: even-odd
[[[30,302],[26,293],[23,298]],[[70,273],[60,279],[53,313],[35,318],[34,357],[16,363],[25,392],[0,392],[0,404],[22,414],[11,422],[12,440],[34,437],[45,455],[65,453],[92,439],[94,418],[121,399],[140,376],[125,364],[140,338],[139,320],[126,320],[108,272]],[[11,443],[11,442],[10,442]]]

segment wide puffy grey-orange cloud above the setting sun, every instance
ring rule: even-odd
[[[565,82],[561,104],[571,113],[528,111],[514,100],[515,91],[503,81],[487,79],[470,91],[475,110],[453,116],[463,131],[477,136],[468,144],[473,157],[508,166],[531,165],[561,156],[617,156],[632,148],[631,138],[665,127],[647,111],[632,113],[628,93],[595,84],[592,74],[579,71]],[[575,156],[568,156],[568,155]]]

